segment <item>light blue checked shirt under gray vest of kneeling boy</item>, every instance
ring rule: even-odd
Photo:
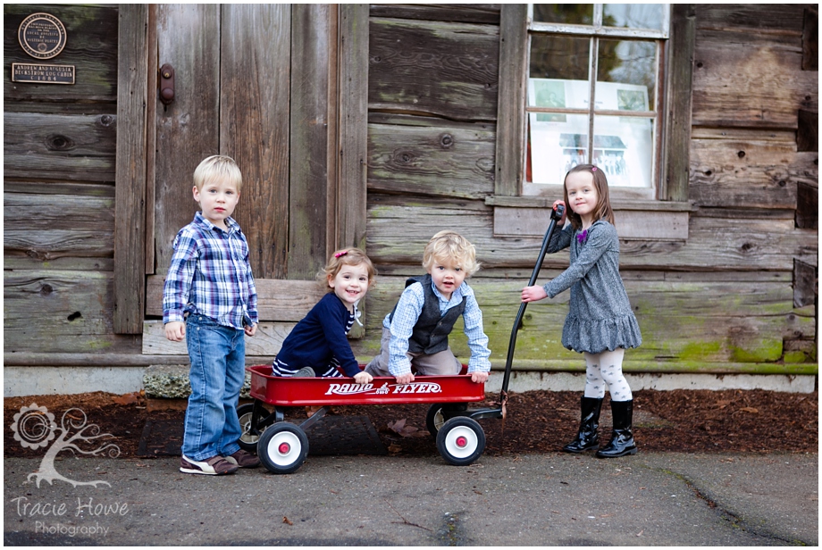
[[[463,312],[464,329],[468,337],[468,347],[471,349],[471,358],[468,360],[468,372],[488,372],[491,371],[491,350],[488,349],[488,337],[482,329],[482,311],[474,297],[474,289],[468,286],[465,281],[457,290],[451,293],[451,299],[446,300],[437,290],[433,281],[431,286],[434,296],[437,296],[440,303],[440,315],[445,314],[452,307],[462,304],[462,299],[467,296],[466,311]],[[394,376],[411,372],[411,360],[408,358],[408,338],[414,331],[414,325],[420,318],[425,304],[425,293],[422,283],[408,285],[399,296],[397,308],[394,310],[394,319],[390,320],[390,314],[385,316],[382,326],[389,329],[391,339],[388,346],[389,362],[388,370]]]

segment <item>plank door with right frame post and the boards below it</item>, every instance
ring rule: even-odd
[[[147,315],[162,315],[174,236],[197,212],[194,170],[227,154],[243,174],[234,218],[251,250],[261,321],[281,335],[288,326],[276,323],[302,319],[322,296],[315,275],[328,255],[365,245],[367,6],[151,9],[153,70],[170,64],[175,89],[171,104],[158,97],[148,109]],[[144,353],[177,353],[160,329],[147,321]]]

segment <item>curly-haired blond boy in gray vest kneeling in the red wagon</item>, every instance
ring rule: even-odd
[[[406,281],[394,311],[382,321],[380,354],[365,372],[393,376],[398,384],[414,381],[412,365],[422,375],[459,374],[462,365],[451,352],[449,334],[462,315],[471,349],[468,374],[485,382],[491,350],[474,290],[465,282],[480,268],[474,245],[454,231],[440,231],[425,246],[423,267],[428,274]]]

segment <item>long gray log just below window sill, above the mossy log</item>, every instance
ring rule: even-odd
[[[369,205],[368,254],[380,264],[414,265],[438,230],[459,228],[481,262],[495,267],[527,266],[539,252],[538,237],[493,237],[492,213],[457,201],[398,204],[382,197]],[[696,212],[698,213],[698,212]],[[793,229],[790,220],[703,218],[692,213],[686,242],[624,241],[620,261],[630,269],[669,271],[792,271],[793,258],[816,264],[818,239]],[[567,265],[567,254],[549,254],[546,265]]]

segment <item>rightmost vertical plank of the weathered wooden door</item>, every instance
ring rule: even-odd
[[[291,115],[289,175],[289,279],[312,279],[326,262],[328,125],[336,96],[329,66],[336,69],[336,28],[329,4],[291,8]],[[334,47],[332,47],[334,46]],[[331,93],[331,102],[329,94]],[[333,158],[333,157],[332,157]]]

